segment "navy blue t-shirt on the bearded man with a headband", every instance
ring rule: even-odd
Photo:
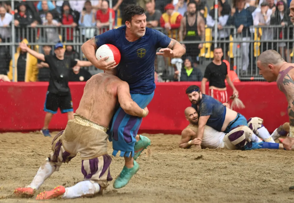
[[[196,105],[192,104],[192,107],[197,109]],[[222,103],[209,95],[202,94],[202,99],[200,101],[197,112],[199,117],[210,116],[206,125],[214,128],[217,131],[221,131],[223,122],[225,121],[225,114],[227,112],[226,107]]]

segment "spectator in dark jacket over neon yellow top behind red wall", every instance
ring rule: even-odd
[[[193,67],[192,57],[188,56],[185,59],[184,67],[181,70],[181,80],[180,81],[201,81],[203,75],[201,71]]]

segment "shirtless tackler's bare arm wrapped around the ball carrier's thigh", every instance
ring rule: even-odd
[[[133,101],[130,94],[130,87],[127,82],[122,81],[117,88],[118,102],[126,114],[138,117],[146,117],[148,111],[141,109],[136,102]],[[147,109],[147,107],[146,107]]]

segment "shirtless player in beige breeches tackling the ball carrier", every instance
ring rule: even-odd
[[[68,163],[79,152],[82,159],[82,173],[85,180],[73,187],[57,186],[44,191],[36,199],[76,198],[102,192],[112,180],[109,171],[111,157],[107,154],[106,131],[114,114],[117,102],[123,110],[133,116],[145,117],[148,109],[141,109],[131,99],[127,82],[114,76],[115,69],[99,73],[86,82],[73,120],[69,120],[64,131],[52,141],[52,152],[42,163],[34,180],[24,188],[17,188],[16,195],[33,196],[43,182],[58,171],[62,163]],[[136,136],[136,160],[143,149],[151,144],[144,136]]]

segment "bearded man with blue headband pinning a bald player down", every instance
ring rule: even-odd
[[[202,94],[198,86],[191,85],[186,89],[186,94],[192,103],[192,107],[196,109],[199,115],[197,131],[197,138],[200,140],[199,145],[206,125],[225,133],[229,133],[237,126],[247,126],[247,120],[243,115],[229,109],[211,96]],[[266,134],[261,138],[266,142],[275,142]],[[253,134],[252,142],[258,142],[258,140],[259,138]]]

